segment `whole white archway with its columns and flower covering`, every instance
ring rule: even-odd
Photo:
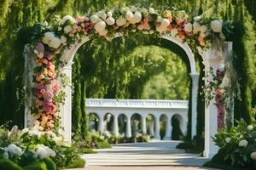
[[[224,57],[232,49],[231,42],[224,42],[230,36],[230,22],[206,20],[195,17],[189,22],[183,10],[175,8],[155,10],[154,8],[113,8],[96,14],[73,19],[67,15],[55,17],[51,23],[35,26],[33,42],[27,44],[26,57],[26,126],[40,123],[45,130],[58,130],[71,140],[71,99],[68,85],[72,77],[73,57],[85,42],[95,37],[111,41],[115,37],[139,32],[154,35],[176,43],[189,58],[192,77],[192,135],[196,132],[196,98],[198,73],[194,54],[202,56],[207,71],[224,69]],[[218,46],[212,43],[218,42]],[[214,74],[212,76],[214,76]],[[212,76],[206,82],[212,81]],[[205,156],[211,157],[218,148],[212,136],[218,131],[218,111],[213,99],[206,105]]]

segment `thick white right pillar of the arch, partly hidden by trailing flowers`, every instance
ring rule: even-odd
[[[232,50],[232,42],[224,43],[224,53],[220,53],[218,49],[209,49],[204,57],[204,64],[206,72],[210,67],[213,69],[213,73],[216,74],[218,68],[224,68],[224,55],[228,51]],[[212,80],[212,77],[209,77]],[[212,137],[218,133],[218,111],[216,105],[214,105],[214,99],[210,104],[206,105],[205,113],[205,150],[204,156],[211,158],[218,152],[218,146],[212,141]]]

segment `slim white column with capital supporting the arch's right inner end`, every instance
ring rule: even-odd
[[[197,92],[198,92],[198,73],[190,73],[192,78],[192,91],[191,91],[191,138],[196,135],[196,122],[197,122]]]

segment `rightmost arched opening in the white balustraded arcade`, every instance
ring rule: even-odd
[[[175,114],[172,116],[172,139],[181,140],[183,139],[184,134],[184,121],[183,117]]]

